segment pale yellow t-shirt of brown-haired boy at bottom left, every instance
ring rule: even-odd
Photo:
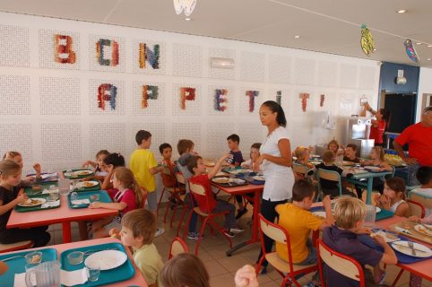
[[[147,284],[158,283],[160,285],[159,274],[163,262],[158,249],[153,243],[134,249],[134,263],[140,269]]]

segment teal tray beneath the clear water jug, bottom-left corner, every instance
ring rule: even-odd
[[[2,254],[0,255],[0,260],[9,257],[14,257],[17,255],[25,256],[26,254],[33,251],[36,250],[26,250],[26,251],[16,252],[12,254],[11,253]],[[42,252],[42,262],[57,260],[57,250],[54,248],[43,248],[43,249],[38,249],[37,251]],[[13,287],[15,274],[25,273],[25,258],[24,257],[14,258],[4,263],[9,266],[9,269],[6,271],[5,274],[0,275],[0,282],[1,282],[0,285],[2,287]]]

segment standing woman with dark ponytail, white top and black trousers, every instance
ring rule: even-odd
[[[256,160],[264,174],[265,184],[261,213],[264,218],[274,222],[277,216],[275,207],[284,204],[292,196],[294,173],[291,169],[291,144],[286,130],[287,119],[281,106],[273,101],[265,101],[260,108],[260,120],[267,126],[268,133],[260,148],[261,155]],[[271,252],[273,240],[264,236],[267,252]],[[263,256],[261,251],[260,256]],[[266,273],[267,261],[264,261],[263,273]]]

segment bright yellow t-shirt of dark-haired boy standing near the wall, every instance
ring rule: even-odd
[[[158,161],[156,161],[153,152],[150,150],[135,150],[132,152],[129,168],[134,172],[136,182],[148,192],[156,190],[156,182],[154,175],[150,173],[150,169],[157,166]]]

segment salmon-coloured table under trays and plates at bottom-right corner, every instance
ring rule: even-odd
[[[389,229],[390,225],[393,225],[398,222],[406,221],[407,219],[400,216],[393,216],[392,218],[384,219],[382,221],[376,222],[376,225],[378,225],[381,228]],[[419,241],[416,239],[411,239],[413,241],[417,241],[425,246],[428,246],[428,248],[432,248],[432,245],[429,245],[426,242]],[[423,260],[416,263],[411,264],[397,264],[398,267],[400,267],[402,270],[406,270],[412,274],[416,274],[420,276],[421,278],[424,278],[428,281],[432,281],[432,258],[429,258],[427,260]],[[398,274],[396,279],[394,280],[392,286],[395,286],[399,278],[401,277],[402,273]]]

